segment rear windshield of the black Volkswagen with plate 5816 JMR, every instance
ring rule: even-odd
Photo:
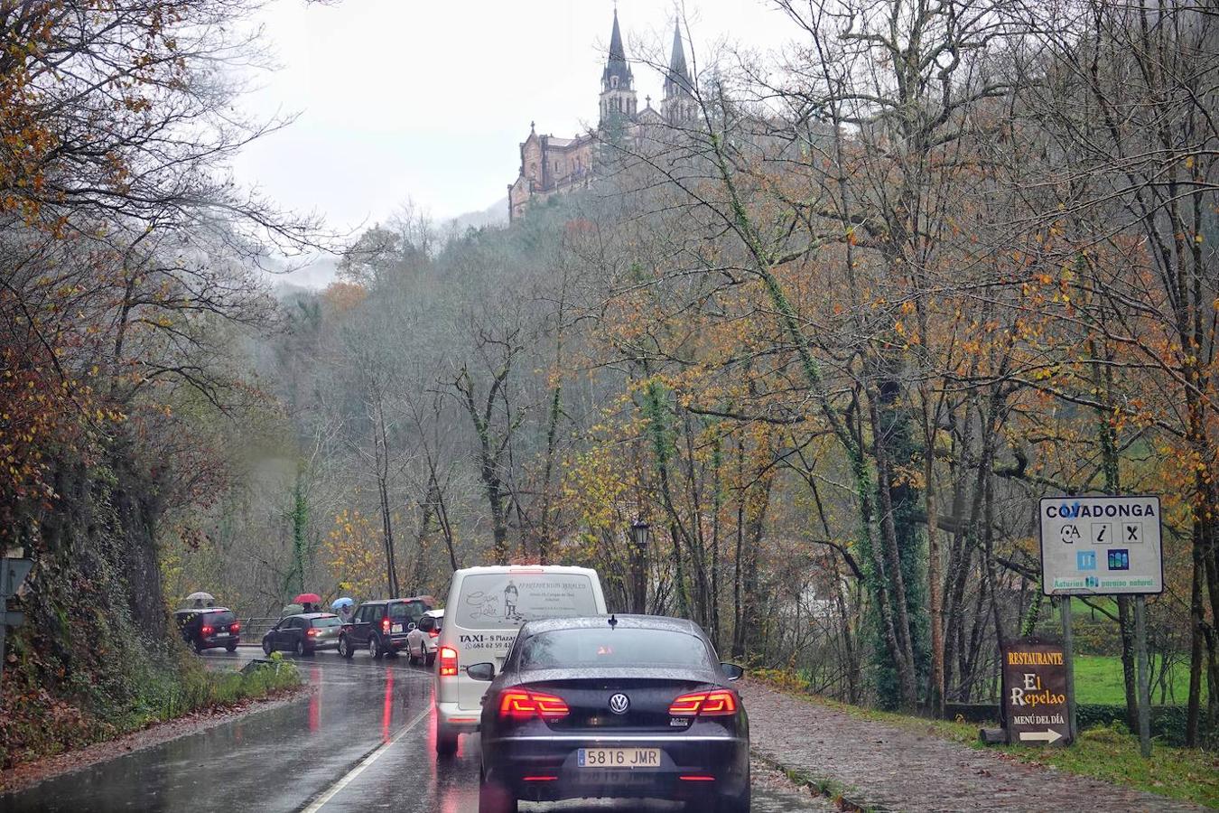
[[[522,669],[713,666],[701,637],[667,629],[560,629],[530,636],[521,650]]]

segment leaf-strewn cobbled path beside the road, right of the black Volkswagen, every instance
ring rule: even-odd
[[[741,695],[753,750],[847,809],[1203,809],[862,719],[756,680]]]

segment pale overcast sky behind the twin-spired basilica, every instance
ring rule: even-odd
[[[695,46],[778,45],[791,27],[763,0],[686,0]],[[273,0],[262,12],[280,66],[245,100],[258,116],[296,112],[251,145],[238,177],[333,228],[384,219],[407,197],[436,218],[506,195],[529,134],[595,123],[611,0]],[[628,59],[672,41],[674,4],[620,0]],[[688,55],[689,56],[689,55]],[[639,105],[662,79],[635,68]]]

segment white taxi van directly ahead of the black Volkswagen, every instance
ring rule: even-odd
[[[478,730],[488,684],[468,676],[466,667],[494,663],[499,672],[527,620],[603,614],[601,580],[589,568],[523,564],[453,573],[436,641],[436,753],[452,754],[460,734]]]

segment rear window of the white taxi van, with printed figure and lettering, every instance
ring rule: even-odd
[[[457,608],[446,608],[461,629],[516,629],[538,618],[596,616],[592,580],[583,573],[474,573],[461,585]]]

